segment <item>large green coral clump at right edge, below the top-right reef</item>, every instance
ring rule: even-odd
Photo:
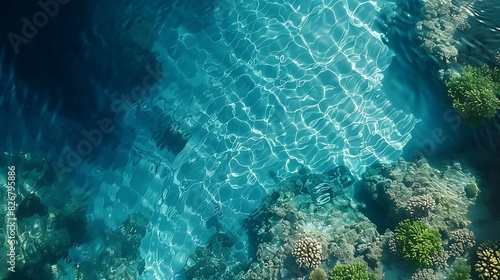
[[[448,95],[460,119],[469,126],[484,124],[500,109],[500,70],[466,66],[447,83]]]

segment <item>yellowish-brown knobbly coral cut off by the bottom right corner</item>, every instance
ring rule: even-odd
[[[500,241],[486,241],[477,248],[477,262],[474,265],[479,278],[500,279]]]

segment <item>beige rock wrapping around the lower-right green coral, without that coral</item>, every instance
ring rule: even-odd
[[[391,176],[394,171],[402,175]],[[367,211],[379,228],[394,229],[401,221],[420,221],[438,230],[443,248],[432,259],[436,272],[444,273],[458,258],[469,258],[475,246],[470,213],[476,209],[476,196],[465,191],[468,185],[477,187],[476,178],[467,166],[455,163],[430,165],[425,159],[415,162],[400,160],[394,164],[374,164],[363,175]],[[371,213],[376,213],[371,215]],[[393,258],[382,261],[401,261],[394,237],[389,236],[388,249]],[[412,279],[437,279],[430,270],[422,269]],[[438,275],[438,274],[436,274]],[[439,274],[441,275],[441,274]]]

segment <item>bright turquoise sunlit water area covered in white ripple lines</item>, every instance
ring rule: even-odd
[[[181,270],[213,233],[206,222],[214,214],[236,230],[274,184],[270,170],[343,164],[359,176],[399,157],[418,120],[380,89],[393,56],[375,27],[381,4],[259,0],[216,10],[214,25],[162,31],[155,49],[182,79],[162,85],[173,103],[151,106],[177,112],[191,138],[168,180],[143,176],[143,204],[154,212],[145,277]],[[172,39],[177,45],[164,43]]]

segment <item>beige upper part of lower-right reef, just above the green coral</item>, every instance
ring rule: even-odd
[[[364,202],[372,205],[366,214],[376,213],[379,227],[394,228],[401,220],[416,218],[411,213],[418,211],[411,210],[413,202],[410,201],[432,197],[435,204],[429,201],[430,207],[423,208],[423,214],[428,215],[421,218],[448,236],[451,231],[471,223],[466,214],[475,201],[466,196],[464,188],[476,184],[476,180],[465,170],[468,168],[447,163],[434,168],[425,159],[373,164],[363,174]]]

